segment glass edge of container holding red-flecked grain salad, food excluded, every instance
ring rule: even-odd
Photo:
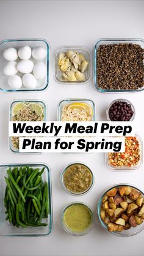
[[[109,153],[106,153],[106,165],[110,170],[113,170],[114,172],[126,172],[126,171],[132,171],[132,170],[137,170],[140,169],[140,167],[142,167],[143,164],[143,141],[142,141],[142,137],[140,137],[140,135],[135,134],[135,137],[137,138],[137,140],[139,141],[139,147],[140,147],[140,161],[136,166],[111,166],[109,164]]]

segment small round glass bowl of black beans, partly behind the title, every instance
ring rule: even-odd
[[[132,121],[135,117],[135,109],[129,100],[113,100],[106,111],[109,121]]]

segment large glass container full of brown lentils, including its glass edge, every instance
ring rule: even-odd
[[[101,38],[94,48],[94,86],[98,92],[142,92],[144,40]]]

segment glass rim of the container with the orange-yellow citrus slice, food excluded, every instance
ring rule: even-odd
[[[65,99],[65,100],[60,101],[59,106],[58,106],[58,121],[61,121],[63,106],[71,104],[71,103],[75,103],[75,102],[89,104],[91,106],[91,108],[93,109],[92,121],[96,120],[96,108],[95,108],[95,103],[92,100],[87,99],[87,98],[70,98],[70,99]]]

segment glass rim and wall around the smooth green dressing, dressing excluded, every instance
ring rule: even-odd
[[[91,224],[89,225],[88,229],[87,230],[84,230],[82,232],[76,232],[76,231],[73,231],[71,230],[64,222],[64,214],[65,214],[65,211],[67,210],[68,207],[70,207],[71,205],[83,205],[84,207],[86,207],[88,209],[88,211],[90,212],[90,215],[91,215]],[[61,213],[61,216],[60,216],[60,219],[61,219],[61,224],[62,224],[62,227],[63,229],[65,230],[65,232],[69,233],[70,235],[73,235],[73,236],[83,236],[83,235],[86,235],[87,233],[89,233],[92,228],[93,228],[93,210],[92,208],[90,208],[88,205],[86,205],[85,203],[82,203],[82,202],[73,202],[73,203],[70,203],[68,204],[66,207],[63,208],[62,210],[62,213]]]

